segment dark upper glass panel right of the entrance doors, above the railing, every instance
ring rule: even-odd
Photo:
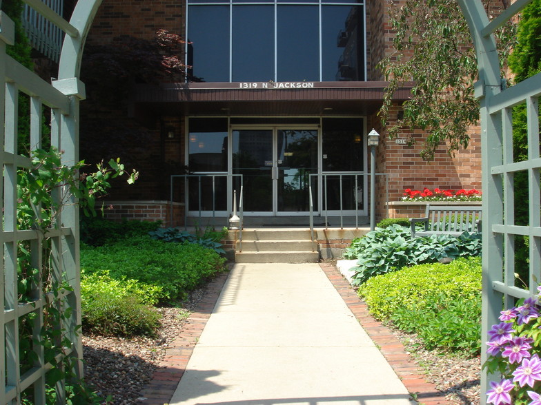
[[[362,135],[362,118],[324,118],[323,171],[361,171],[364,167]]]

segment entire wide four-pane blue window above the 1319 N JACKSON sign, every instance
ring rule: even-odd
[[[365,80],[364,5],[355,0],[202,1],[188,1],[188,80]]]

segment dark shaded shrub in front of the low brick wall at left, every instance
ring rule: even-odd
[[[106,220],[100,217],[81,218],[81,242],[90,246],[104,246],[126,238],[145,236],[161,225],[161,221]]]

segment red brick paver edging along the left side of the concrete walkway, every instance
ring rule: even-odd
[[[228,275],[229,273],[222,273],[207,285],[204,297],[190,313],[181,335],[169,344],[164,360],[161,360],[152,380],[144,388],[142,396],[145,399],[141,401],[142,404],[164,405],[173,397]]]

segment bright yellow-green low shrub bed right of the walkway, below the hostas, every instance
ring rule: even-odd
[[[359,289],[370,312],[414,332],[427,349],[480,353],[481,260],[421,264],[371,278]]]

